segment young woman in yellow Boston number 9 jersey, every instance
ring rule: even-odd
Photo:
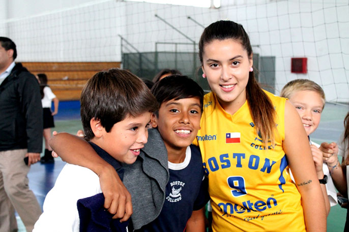
[[[212,89],[197,143],[209,177],[213,231],[326,231],[300,117],[285,98],[257,84],[242,25],[217,21],[205,28],[199,56]]]

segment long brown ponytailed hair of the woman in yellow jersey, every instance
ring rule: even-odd
[[[241,24],[232,21],[217,21],[203,30],[199,41],[199,57],[201,65],[203,63],[202,54],[205,45],[214,40],[236,40],[241,43],[247,51],[248,57],[252,58],[252,46],[250,39]],[[250,114],[257,131],[260,131],[264,144],[268,140],[274,141],[274,132],[276,131],[276,112],[273,104],[267,94],[257,83],[254,72],[249,72],[248,83],[246,86],[246,98],[250,107]]]

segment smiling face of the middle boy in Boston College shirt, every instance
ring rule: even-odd
[[[201,107],[198,97],[163,102],[159,117],[153,115],[153,126],[158,127],[167,152],[186,149],[200,128]]]

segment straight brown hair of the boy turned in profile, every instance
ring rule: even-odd
[[[154,112],[158,103],[150,89],[138,77],[121,69],[95,74],[84,86],[80,96],[81,122],[87,139],[95,137],[92,118],[99,119],[107,132],[128,115]]]

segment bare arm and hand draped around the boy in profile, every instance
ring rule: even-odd
[[[59,133],[49,140],[52,149],[66,162],[80,165],[99,176],[105,197],[104,208],[113,218],[126,221],[132,214],[131,195],[115,169],[102,159],[84,139],[68,133]],[[73,154],[73,155],[72,155]]]

